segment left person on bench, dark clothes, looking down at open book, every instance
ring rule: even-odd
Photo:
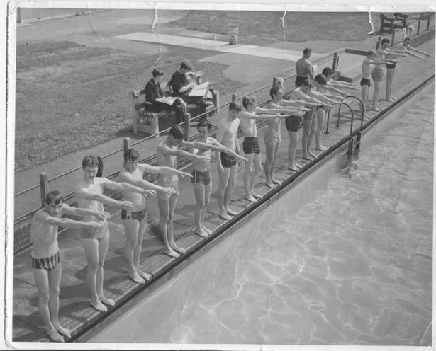
[[[186,120],[187,112],[186,105],[183,100],[176,99],[172,105],[157,101],[157,98],[164,98],[164,93],[160,88],[160,83],[164,79],[164,71],[162,69],[153,69],[153,78],[147,82],[145,86],[145,100],[152,105],[148,108],[152,112],[160,112],[164,110],[174,110],[176,115],[176,123],[179,124]]]

